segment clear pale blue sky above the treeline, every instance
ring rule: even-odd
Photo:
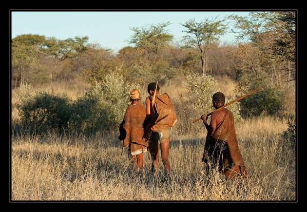
[[[174,41],[181,41],[186,30],[181,24],[190,19],[196,22],[207,18],[223,19],[229,15],[248,16],[249,11],[11,11],[11,38],[34,34],[68,39],[89,37],[89,43],[115,52],[129,44],[134,35],[132,27],[170,22],[166,28]],[[230,30],[230,29],[229,29]],[[234,34],[227,33],[221,42],[234,42]]]

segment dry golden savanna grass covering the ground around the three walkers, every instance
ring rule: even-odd
[[[177,110],[188,94],[181,81],[161,89],[173,99]],[[233,83],[219,79],[221,91],[233,95]],[[45,86],[76,98],[85,83]],[[145,98],[143,98],[144,101]],[[15,98],[12,95],[12,103]],[[236,134],[248,179],[226,181],[213,173],[207,183],[201,162],[207,131],[194,123],[190,131],[174,126],[169,152],[170,177],[161,158],[158,174],[151,173],[151,160],[144,154],[144,168],[137,173],[122,148],[118,135],[99,132],[91,136],[46,132],[14,135],[11,139],[11,201],[297,201],[295,143],[282,136],[288,130],[288,114],[245,117],[236,123]],[[292,112],[291,112],[292,111]],[[201,115],[195,112],[196,115]],[[198,116],[197,115],[197,116]],[[16,111],[12,111],[12,126]],[[197,117],[181,118],[180,126],[192,125]],[[184,128],[185,129],[185,128]],[[192,130],[191,130],[192,129]],[[14,130],[14,128],[13,128]]]

